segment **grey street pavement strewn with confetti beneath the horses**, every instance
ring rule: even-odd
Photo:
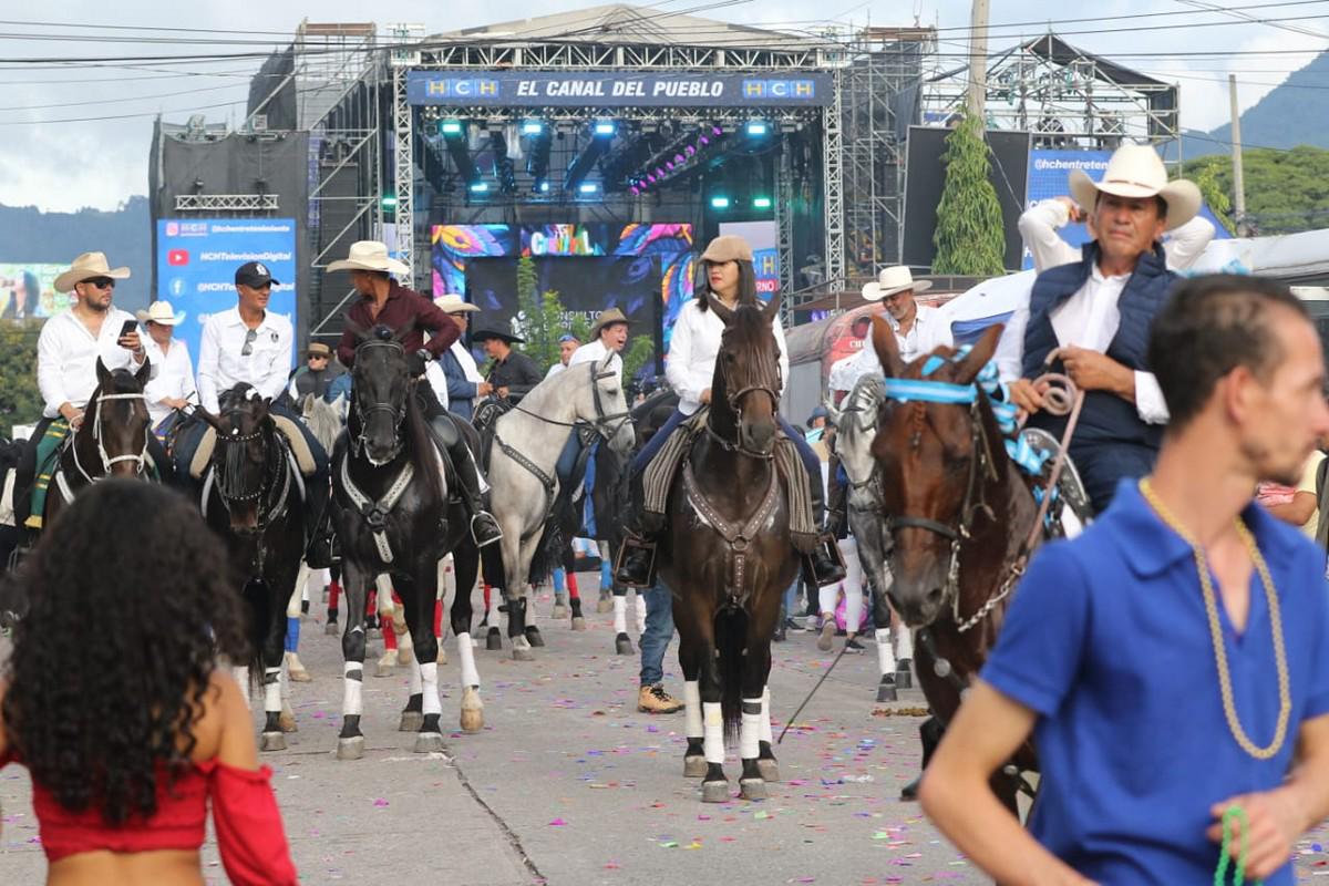
[[[595,575],[583,575],[593,588]],[[631,598],[630,598],[631,599]],[[921,817],[900,786],[920,762],[922,697],[874,703],[876,655],[845,655],[776,748],[783,781],[762,802],[736,798],[739,764],[726,772],[734,798],[702,804],[683,769],[683,716],[637,711],[639,655],[614,654],[611,615],[594,612],[573,632],[548,616],[537,660],[510,648],[476,651],[485,729],[445,736],[445,752],[412,753],[396,731],[407,697],[404,669],[365,677],[358,761],[334,756],[340,725],[342,656],[323,634],[323,607],[304,619],[300,656],[312,683],[292,685],[299,732],[287,751],[263,754],[282,806],[302,882],[420,882],[449,886],[666,886],[710,883],[983,883],[987,882]],[[629,624],[637,644],[631,604]],[[776,735],[819,677],[831,654],[815,635],[791,632],[775,646]],[[457,728],[456,644],[440,667],[444,727]],[[381,650],[381,643],[371,643]],[[0,656],[5,650],[0,647]],[[372,672],[367,663],[367,672]],[[676,644],[666,685],[682,692]],[[255,728],[258,715],[255,715]],[[45,861],[20,766],[0,773],[0,883],[40,883]],[[1300,847],[1298,879],[1329,874],[1329,833]],[[215,842],[203,873],[225,883]]]

